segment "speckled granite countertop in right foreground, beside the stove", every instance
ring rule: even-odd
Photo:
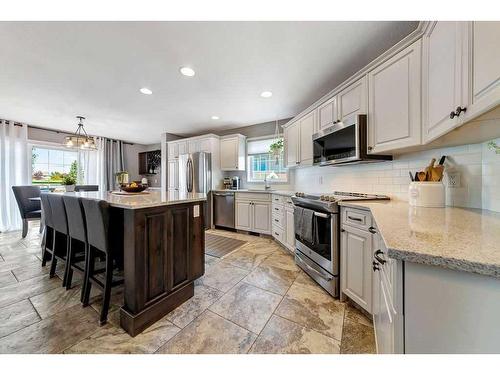
[[[341,205],[371,211],[391,258],[500,278],[500,213],[401,201]]]

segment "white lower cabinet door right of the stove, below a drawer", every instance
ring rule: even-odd
[[[372,234],[366,230],[342,225],[341,288],[367,312],[372,312]]]

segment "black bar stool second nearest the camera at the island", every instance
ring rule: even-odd
[[[66,217],[68,218],[68,237],[69,248],[68,256],[66,257],[66,289],[71,289],[71,281],[73,280],[73,271],[77,271],[82,276],[85,275],[85,253],[87,249],[87,225],[80,198],[74,195],[64,195],[64,207],[66,209]],[[85,283],[85,277],[83,277]],[[82,286],[82,294],[80,300],[83,302],[83,291],[85,285]]]

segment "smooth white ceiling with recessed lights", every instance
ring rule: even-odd
[[[0,117],[157,143],[292,117],[416,22],[0,22]],[[179,74],[190,66],[196,76]],[[143,95],[148,87],[153,95]],[[270,99],[260,93],[273,92]],[[217,115],[220,120],[210,117]]]

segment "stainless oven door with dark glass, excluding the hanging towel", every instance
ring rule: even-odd
[[[295,231],[297,250],[334,276],[339,274],[338,220],[336,213],[314,211],[314,243]]]

